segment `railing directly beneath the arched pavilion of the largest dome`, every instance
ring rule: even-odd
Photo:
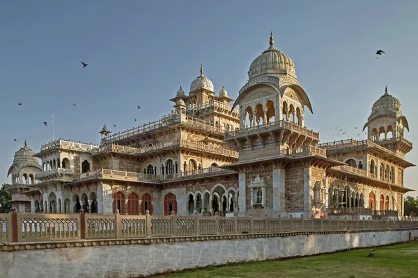
[[[294,124],[293,122],[288,122],[286,120],[280,120],[277,122],[268,122],[267,124],[251,126],[247,129],[238,129],[236,131],[229,131],[225,133],[225,139],[249,136],[249,135],[253,135],[253,134],[257,134],[261,132],[273,131],[273,130],[281,129],[281,128],[289,129],[291,131],[300,133],[304,136],[309,136],[309,137],[319,140],[319,133],[311,131],[307,129],[306,127],[302,127],[297,124]]]

